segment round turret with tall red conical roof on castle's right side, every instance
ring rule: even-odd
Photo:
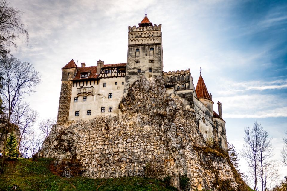
[[[211,113],[213,113],[214,102],[212,101],[211,94],[207,91],[206,85],[201,76],[201,71],[195,91],[197,98],[211,111]]]

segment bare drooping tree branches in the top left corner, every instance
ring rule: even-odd
[[[9,47],[17,48],[15,40],[25,36],[29,41],[29,34],[21,21],[23,12],[9,6],[6,0],[0,1],[0,53],[10,52]]]

